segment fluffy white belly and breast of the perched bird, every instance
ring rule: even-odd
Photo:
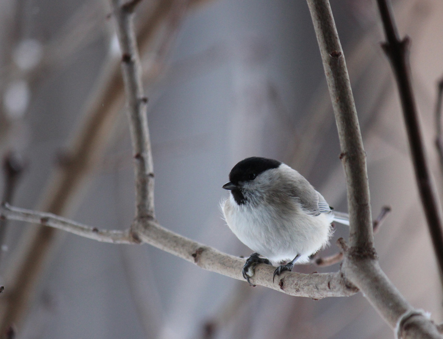
[[[279,214],[276,210],[249,204],[238,205],[232,195],[222,203],[226,223],[232,232],[254,252],[273,264],[290,261],[300,254],[297,262],[309,261],[309,256],[328,243],[331,234],[330,214],[311,216],[298,204]]]

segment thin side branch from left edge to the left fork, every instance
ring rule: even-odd
[[[74,222],[52,213],[35,212],[24,208],[12,207],[8,203],[0,205],[0,215],[3,218],[12,220],[51,226],[58,230],[74,233],[99,242],[111,242],[113,244],[139,243],[131,237],[129,231],[99,230],[97,227],[82,225],[79,222]]]

